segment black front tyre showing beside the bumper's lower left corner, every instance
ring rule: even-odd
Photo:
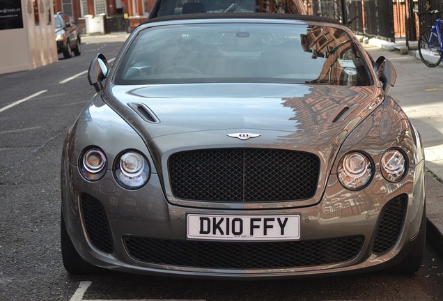
[[[93,272],[95,266],[87,263],[72,244],[68,231],[66,230],[65,219],[63,213],[60,219],[60,240],[61,240],[61,257],[65,270],[71,274],[85,274]]]

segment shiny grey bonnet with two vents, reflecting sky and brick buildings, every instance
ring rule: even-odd
[[[380,93],[373,86],[169,84],[109,86],[103,97],[147,141],[251,132],[278,138],[272,144],[318,148],[370,114]]]

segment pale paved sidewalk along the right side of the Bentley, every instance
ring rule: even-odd
[[[371,39],[364,47],[374,60],[384,56],[396,68],[397,82],[390,95],[401,105],[423,140],[428,169],[427,240],[443,255],[443,63],[427,67],[417,50],[405,52],[405,43]]]

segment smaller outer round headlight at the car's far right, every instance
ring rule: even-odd
[[[380,170],[385,179],[396,183],[403,179],[406,173],[406,158],[401,151],[390,149],[382,155]]]

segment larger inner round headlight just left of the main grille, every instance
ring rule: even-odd
[[[150,176],[148,161],[140,153],[127,151],[117,158],[114,173],[123,187],[137,189],[146,184]]]

